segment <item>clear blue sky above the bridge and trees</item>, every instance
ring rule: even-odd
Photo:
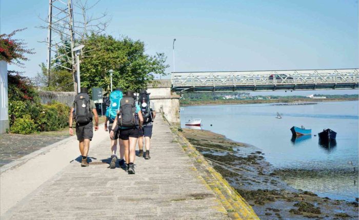
[[[35,26],[48,0],[2,0],[0,7],[1,33],[28,28],[16,37],[36,51],[24,70],[33,77],[46,62],[46,45],[37,41],[47,32]],[[359,67],[357,0],[102,0],[93,12],[104,11],[112,15],[107,34],[141,39],[148,54],[164,52],[167,72],[173,38],[176,71]]]

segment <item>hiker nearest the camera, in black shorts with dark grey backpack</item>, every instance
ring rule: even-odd
[[[134,94],[128,91],[120,101],[119,111],[113,122],[110,137],[113,138],[119,129],[119,138],[123,140],[125,146],[125,170],[128,174],[134,174],[134,160],[136,157],[136,143],[138,139],[138,129],[142,128],[143,117]],[[118,126],[116,126],[118,125]]]

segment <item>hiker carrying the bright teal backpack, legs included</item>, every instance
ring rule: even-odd
[[[121,88],[117,88],[115,89],[113,92],[111,92],[110,97],[109,97],[109,103],[108,103],[108,107],[106,109],[106,119],[105,119],[105,130],[109,130],[109,132],[111,132],[112,127],[113,127],[113,121],[116,118],[117,115],[117,111],[119,109],[119,102],[123,97],[123,91]],[[109,125],[107,126],[107,122],[109,122]],[[124,161],[124,153],[125,153],[125,147],[123,144],[123,141],[121,139],[118,139],[119,134],[118,134],[118,129],[117,132],[113,135],[113,138],[110,137],[111,139],[111,162],[110,162],[110,168],[114,169],[116,168],[116,161],[117,161],[117,156],[116,156],[116,151],[117,151],[117,140],[118,140],[118,144],[119,144],[119,166],[122,167],[125,164]]]

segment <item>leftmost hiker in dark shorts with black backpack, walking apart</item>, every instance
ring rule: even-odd
[[[73,114],[74,113],[74,114]],[[73,135],[72,120],[76,121],[76,136],[79,141],[79,149],[82,156],[81,166],[89,166],[87,154],[90,141],[93,137],[92,120],[95,117],[95,131],[98,130],[98,115],[95,103],[90,100],[87,88],[81,88],[81,92],[75,96],[69,116],[69,134]]]

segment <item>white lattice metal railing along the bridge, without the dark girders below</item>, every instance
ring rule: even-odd
[[[173,87],[359,83],[358,69],[172,73]]]

